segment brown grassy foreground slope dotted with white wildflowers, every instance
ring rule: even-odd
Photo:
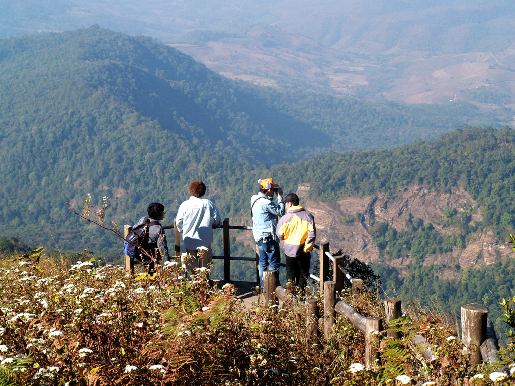
[[[455,323],[421,309],[405,306],[404,337],[384,338],[365,371],[364,336],[348,320],[337,318],[327,349],[306,345],[302,307],[247,309],[232,285],[209,288],[206,271],[183,280],[169,264],[138,280],[89,256],[72,266],[45,256],[0,264],[3,384],[451,385],[475,374],[474,384],[492,384],[492,367],[466,370]],[[384,318],[373,294],[350,292],[341,298],[358,312]],[[415,334],[434,345],[431,363],[414,355]]]

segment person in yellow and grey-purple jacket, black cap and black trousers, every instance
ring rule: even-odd
[[[299,197],[289,193],[284,198],[286,214],[277,223],[276,235],[284,240],[286,279],[304,292],[310,275],[311,251],[317,237],[315,218],[299,205]]]

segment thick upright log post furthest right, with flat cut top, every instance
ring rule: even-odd
[[[472,369],[481,362],[481,344],[487,338],[488,309],[478,304],[461,306],[461,342],[464,353],[470,354]],[[475,346],[475,349],[469,347]]]

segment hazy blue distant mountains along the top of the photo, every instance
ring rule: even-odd
[[[159,10],[159,12],[157,12]],[[188,31],[274,25],[324,47],[373,54],[393,48],[434,54],[502,51],[515,39],[510,2],[299,0],[217,2],[20,0],[0,5],[0,37],[94,23],[171,41]]]

